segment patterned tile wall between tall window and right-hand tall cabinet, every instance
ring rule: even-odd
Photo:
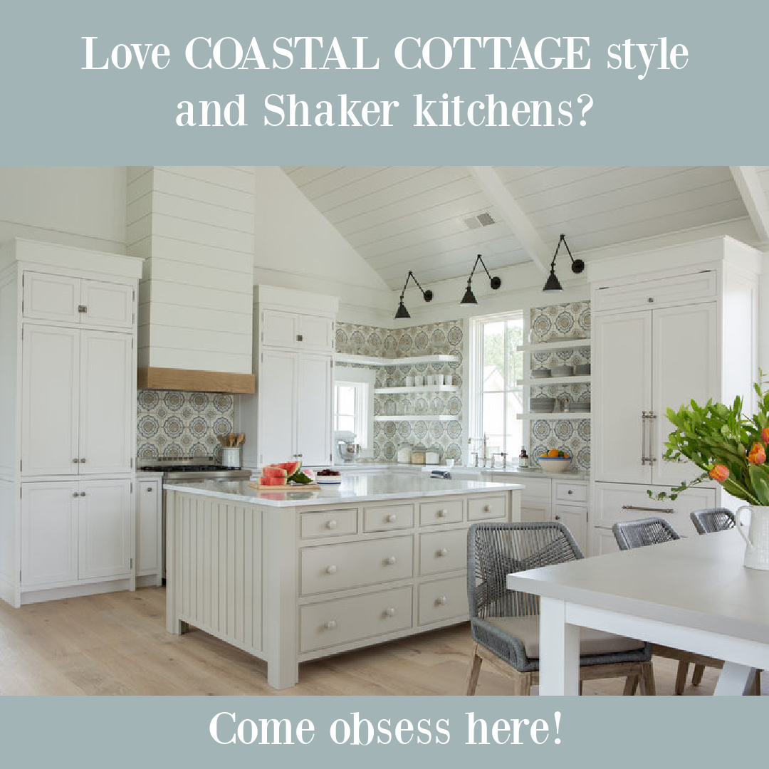
[[[590,302],[574,301],[566,305],[531,308],[531,343],[590,337]],[[531,353],[531,368],[590,363],[590,350],[558,350]],[[571,401],[590,401],[590,384],[550,384],[531,387],[531,397],[568,396]],[[590,420],[537,419],[530,423],[529,454],[534,461],[551,448],[568,450],[576,469],[590,471]]]

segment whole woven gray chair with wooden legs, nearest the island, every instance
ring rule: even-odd
[[[468,599],[475,641],[467,694],[474,694],[485,660],[513,679],[513,694],[539,683],[539,598],[508,590],[514,571],[582,558],[570,531],[559,523],[479,523],[468,531]],[[581,682],[626,677],[624,694],[641,680],[654,694],[651,644],[588,628],[581,631]]]

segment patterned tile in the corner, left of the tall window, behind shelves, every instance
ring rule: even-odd
[[[464,321],[446,321],[410,328],[375,328],[372,326],[338,323],[335,327],[336,349],[348,355],[369,355],[378,358],[405,358],[416,355],[454,355],[451,363],[418,363],[415,365],[377,366],[376,387],[404,387],[406,377],[451,376],[456,392],[409,392],[404,394],[375,394],[375,416],[424,414],[424,419],[403,422],[375,422],[373,459],[394,461],[398,444],[438,446],[442,459],[459,461],[465,441],[462,421],[464,378]],[[355,364],[357,365],[357,364]],[[437,421],[431,416],[445,414],[450,421]]]

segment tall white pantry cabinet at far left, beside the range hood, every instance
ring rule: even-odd
[[[141,259],[0,247],[0,598],[135,585]]]

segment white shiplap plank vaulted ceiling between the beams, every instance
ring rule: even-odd
[[[529,261],[466,166],[285,166],[318,211],[391,288],[413,270],[424,285]],[[747,216],[727,166],[497,166],[554,250],[572,253]],[[494,225],[465,219],[488,211]]]

